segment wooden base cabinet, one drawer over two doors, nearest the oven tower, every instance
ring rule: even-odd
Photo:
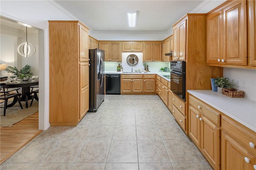
[[[220,169],[220,113],[189,95],[188,135],[214,169]]]

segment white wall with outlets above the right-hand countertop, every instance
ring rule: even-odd
[[[256,101],[256,70],[223,68],[223,76],[230,79],[233,88],[244,91],[245,98]],[[236,86],[237,80],[241,80],[240,87]],[[246,88],[242,87],[243,80],[246,80]]]

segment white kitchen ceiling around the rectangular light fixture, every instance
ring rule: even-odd
[[[204,0],[55,0],[92,32],[168,32]],[[212,7],[214,8],[214,7]],[[136,27],[127,11],[139,11]],[[207,11],[208,12],[208,11]]]

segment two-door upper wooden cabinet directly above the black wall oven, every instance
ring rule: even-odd
[[[173,61],[186,61],[186,21],[175,23],[173,27]]]

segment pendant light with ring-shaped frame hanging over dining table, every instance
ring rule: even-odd
[[[28,43],[28,27],[26,27],[26,43],[22,43],[18,47],[18,53],[23,57],[30,57],[36,53],[36,47]]]

